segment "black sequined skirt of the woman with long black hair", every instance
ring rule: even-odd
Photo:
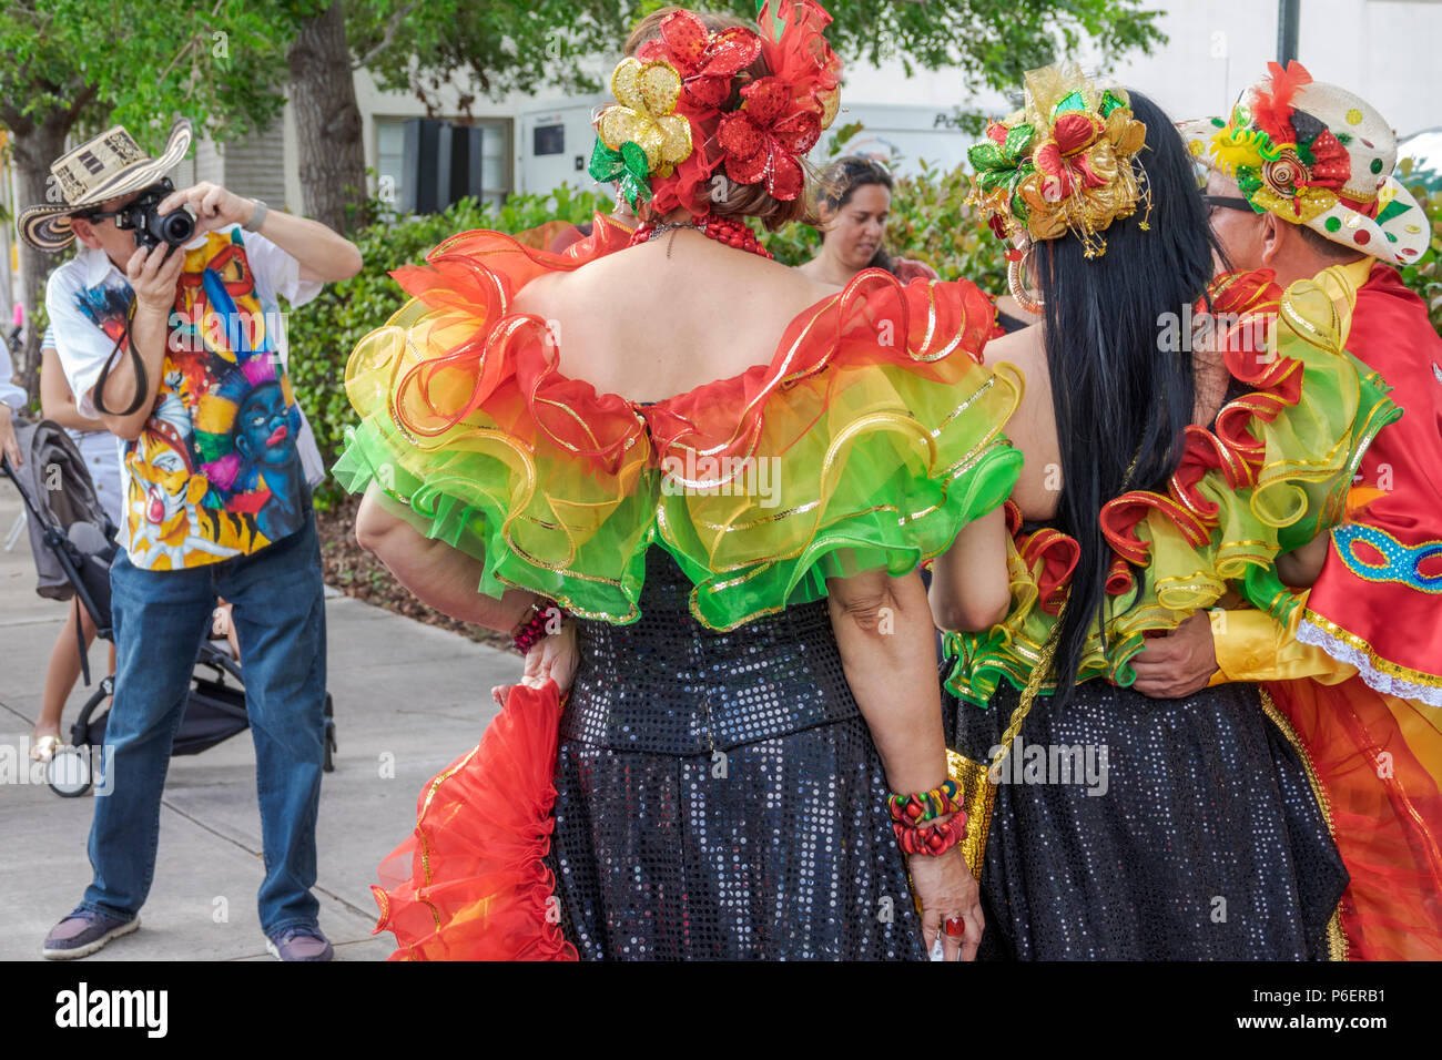
[[[1007,685],[986,710],[946,697],[952,746],[988,760],[1017,701]],[[1304,960],[1340,945],[1347,871],[1255,685],[1041,698],[1002,779],[983,958]]]

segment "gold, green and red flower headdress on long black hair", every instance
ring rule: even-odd
[[[1100,232],[1113,221],[1144,200],[1151,212],[1146,172],[1132,162],[1145,143],[1146,127],[1122,88],[1100,88],[1073,63],[1031,71],[1025,107],[991,123],[986,140],[968,151],[976,170],[969,202],[989,213],[998,238],[1071,231],[1086,257],[1099,257]]]

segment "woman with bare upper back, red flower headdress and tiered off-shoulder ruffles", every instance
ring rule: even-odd
[[[992,557],[1005,611],[1019,384],[975,287],[838,293],[746,225],[803,215],[828,20],[665,13],[591,160],[642,228],[448,239],[352,358],[358,535],[526,656],[382,867],[398,958],[975,953],[916,568]]]

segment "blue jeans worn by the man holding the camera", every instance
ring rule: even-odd
[[[147,571],[111,567],[115,698],[105,744],[110,795],[95,799],[82,909],[133,919],[150,893],[170,743],[216,596],[234,604],[245,708],[255,738],[265,881],[261,927],[314,924],[316,813],[324,761],[326,609],[316,519],[252,555]]]

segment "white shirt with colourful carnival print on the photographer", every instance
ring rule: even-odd
[[[140,438],[123,446],[121,541],[134,565],[154,571],[251,554],[300,529],[307,464],[319,463],[314,443],[301,444],[275,296],[304,304],[320,284],[301,283],[293,257],[236,226],[205,234],[185,255],[156,404]],[[92,388],[133,300],[99,251],[50,277],[56,350],[85,415],[97,414]],[[128,356],[121,349],[114,365]]]

